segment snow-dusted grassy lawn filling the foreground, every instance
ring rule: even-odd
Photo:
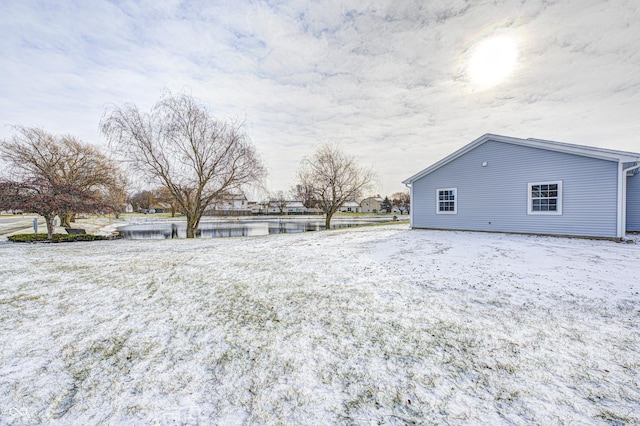
[[[1,424],[640,424],[640,244],[0,243]]]

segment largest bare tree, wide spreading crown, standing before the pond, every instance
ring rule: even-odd
[[[266,174],[242,126],[215,119],[186,94],[165,94],[149,113],[112,107],[101,129],[135,170],[169,191],[187,216],[187,238],[217,199]]]

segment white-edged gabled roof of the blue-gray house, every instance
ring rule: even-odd
[[[486,133],[480,136],[478,139],[474,140],[473,142],[455,151],[453,154],[450,154],[444,157],[442,160],[438,161],[437,163],[432,164],[431,166],[427,167],[421,172],[402,181],[402,183],[404,184],[412,183],[422,178],[423,176],[426,176],[429,173],[439,169],[440,167],[452,162],[456,158],[461,157],[462,155],[466,154],[472,149],[475,149],[478,146],[482,145],[483,143],[489,142],[489,141],[504,142],[504,143],[510,143],[513,145],[522,145],[522,146],[528,146],[531,148],[540,148],[540,149],[546,149],[548,151],[564,152],[568,154],[582,155],[584,157],[592,157],[592,158],[598,158],[601,160],[609,160],[609,161],[616,161],[616,162],[622,162],[622,163],[640,162],[640,153],[637,153],[637,152],[617,151],[614,149],[596,148],[592,146],[575,145],[575,144],[564,143],[564,142],[548,141],[544,139],[535,139],[535,138],[520,139],[520,138],[514,138],[510,136],[502,136],[502,135]]]

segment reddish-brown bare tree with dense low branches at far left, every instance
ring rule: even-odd
[[[96,148],[73,136],[15,126],[0,142],[0,156],[11,166],[4,200],[43,215],[51,237],[53,220],[69,226],[74,213],[110,210],[108,192],[118,185],[116,167]]]

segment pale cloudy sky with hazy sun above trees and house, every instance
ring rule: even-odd
[[[377,192],[484,133],[640,151],[637,0],[0,0],[0,138],[104,144],[164,89],[242,118],[272,190],[318,144]]]

